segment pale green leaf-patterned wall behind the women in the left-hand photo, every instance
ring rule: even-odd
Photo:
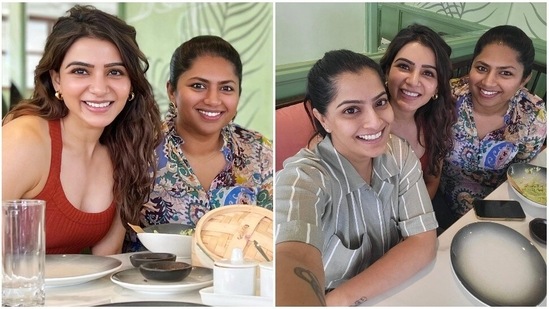
[[[128,3],[128,22],[151,63],[148,77],[162,112],[167,110],[166,80],[177,46],[212,34],[229,41],[243,63],[242,96],[236,122],[273,136],[272,3]]]

